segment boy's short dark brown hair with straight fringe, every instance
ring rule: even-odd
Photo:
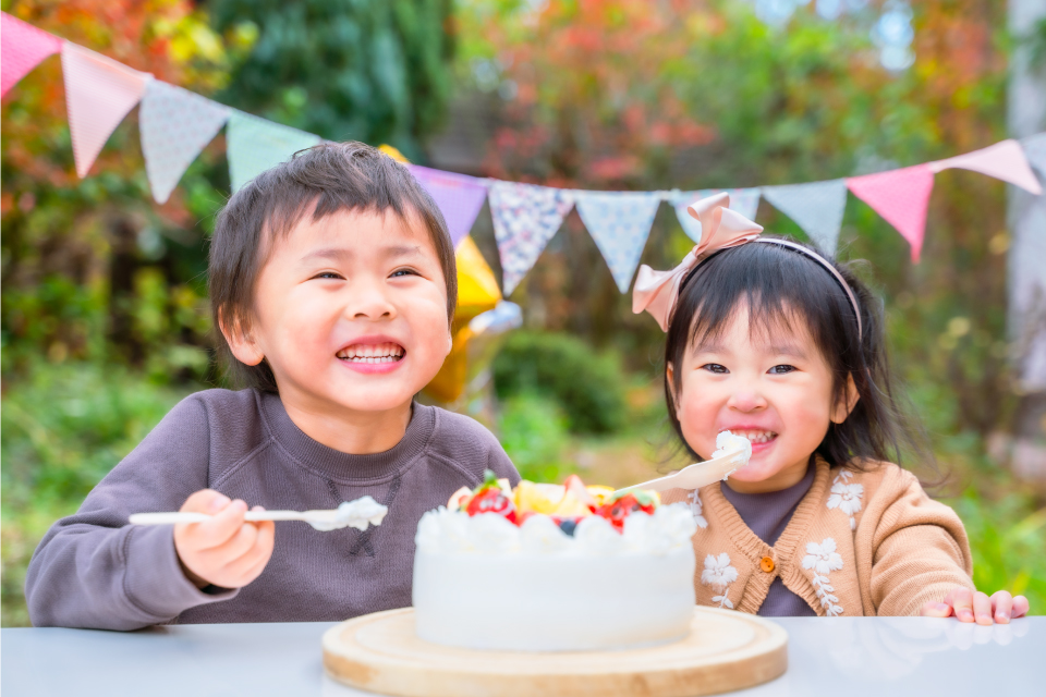
[[[271,243],[306,216],[320,220],[339,210],[417,216],[436,247],[447,283],[447,320],[458,304],[458,268],[447,222],[431,196],[404,166],[363,143],[324,143],[262,172],[232,195],[218,213],[210,242],[208,286],[219,360],[236,386],[277,392],[268,364],[240,363],[221,333],[251,325],[254,289]]]

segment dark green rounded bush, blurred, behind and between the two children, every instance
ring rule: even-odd
[[[624,425],[625,375],[617,356],[569,334],[513,333],[494,360],[494,381],[502,399],[522,392],[555,399],[574,432]]]

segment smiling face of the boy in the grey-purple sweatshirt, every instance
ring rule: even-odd
[[[273,242],[247,337],[230,344],[248,365],[268,362],[289,407],[336,416],[410,404],[451,347],[424,224],[391,210],[306,216]]]

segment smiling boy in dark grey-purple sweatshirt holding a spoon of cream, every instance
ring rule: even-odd
[[[26,577],[37,626],[344,620],[411,603],[422,513],[484,469],[489,431],[413,401],[450,352],[454,250],[405,168],[324,144],[258,175],[218,217],[210,297],[231,376],[186,398],[56,523]],[[389,508],[364,533],[245,523],[247,503]],[[131,513],[207,523],[134,527]]]

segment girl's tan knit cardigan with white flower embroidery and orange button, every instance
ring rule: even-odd
[[[755,613],[777,576],[818,615],[915,615],[954,586],[973,588],[962,522],[897,465],[871,472],[819,460],[814,484],[774,547],[720,490],[672,489],[697,522],[697,604]]]

